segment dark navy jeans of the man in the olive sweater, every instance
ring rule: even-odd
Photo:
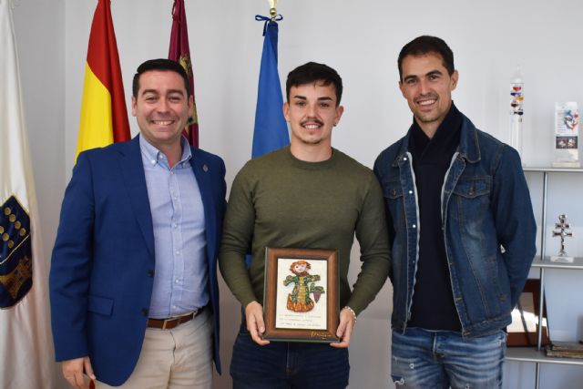
[[[233,389],[343,389],[348,386],[348,349],[328,343],[253,342],[243,326],[233,346]]]

